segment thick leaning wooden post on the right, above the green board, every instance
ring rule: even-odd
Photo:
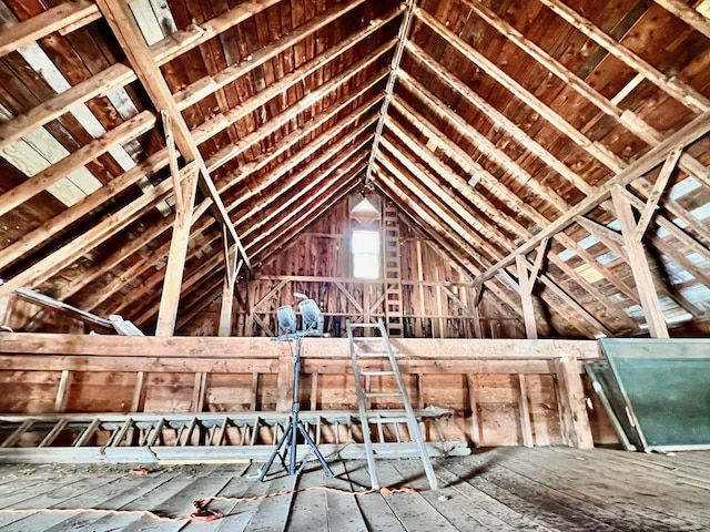
[[[631,266],[633,283],[639,293],[639,299],[643,308],[649,334],[653,338],[668,338],[668,327],[663,318],[658,294],[653,286],[653,276],[648,266],[646,249],[640,238],[636,238],[638,225],[633,217],[631,202],[626,197],[626,190],[618,185],[611,192],[611,200],[613,201],[613,207],[617,212],[617,218],[621,225],[621,234],[623,235],[625,247],[629,257],[629,266]]]

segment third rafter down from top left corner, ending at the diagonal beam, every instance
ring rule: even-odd
[[[9,213],[18,205],[44,191],[48,186],[53,185],[59,180],[90,163],[112,146],[128,142],[150,131],[154,124],[155,116],[153,113],[143,111],[118,127],[104,133],[99,139],[94,139],[89,144],[81,146],[47,170],[34,174],[23,183],[10,188],[0,196],[0,216]]]

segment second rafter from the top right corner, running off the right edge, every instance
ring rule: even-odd
[[[663,74],[623,44],[615,41],[588,19],[564,4],[560,0],[540,0],[540,3],[547,6],[572,28],[582,32],[600,47],[604,47],[611,55],[631,66],[669,96],[691,109],[693,112],[706,113],[710,111],[710,100],[700,94],[700,92],[676,76]]]

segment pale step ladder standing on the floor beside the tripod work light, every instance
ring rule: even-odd
[[[355,329],[376,329],[379,337],[356,337]],[[353,362],[353,374],[355,377],[355,390],[357,392],[357,406],[359,409],[361,427],[363,430],[363,442],[365,443],[365,454],[367,457],[367,468],[369,470],[369,479],[372,488],[378,490],[381,488],[377,480],[377,471],[375,469],[375,451],[373,449],[373,438],[371,434],[371,424],[378,424],[378,420],[387,410],[377,410],[372,408],[373,399],[389,398],[393,401],[399,401],[404,408],[402,422],[406,423],[407,431],[412,444],[403,450],[400,457],[419,457],[424,464],[424,471],[429,480],[433,490],[437,489],[436,475],[432,468],[432,460],[426,449],[424,436],[419,430],[417,418],[412,409],[412,402],[407,395],[407,390],[402,380],[402,374],[395,359],[395,354],[389,344],[389,337],[385,324],[381,319],[377,324],[347,324],[347,338],[351,348],[351,359]],[[372,377],[394,377],[397,383],[397,391],[372,391]],[[383,434],[378,433],[382,440]],[[392,457],[388,457],[392,458]]]

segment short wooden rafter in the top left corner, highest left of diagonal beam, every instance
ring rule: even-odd
[[[77,22],[88,24],[100,18],[95,3],[89,0],[60,3],[23,22],[4,27],[0,32],[0,57],[69,25],[75,29]]]

